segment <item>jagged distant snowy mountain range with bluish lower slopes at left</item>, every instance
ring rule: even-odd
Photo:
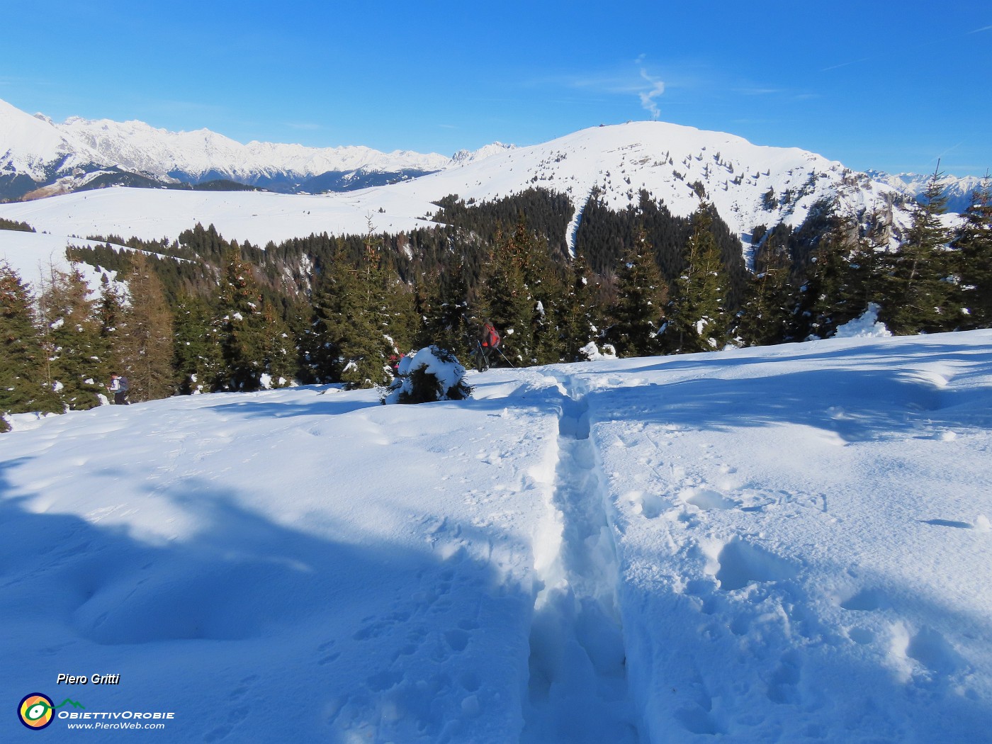
[[[101,186],[346,191],[418,178],[506,147],[496,144],[446,157],[367,147],[242,145],[206,129],[169,132],[140,121],[71,117],[59,124],[0,100],[0,198],[39,198]]]

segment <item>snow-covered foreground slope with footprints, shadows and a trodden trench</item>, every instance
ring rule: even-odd
[[[992,331],[467,380],[14,417],[4,697],[83,705],[54,741],[987,738]]]

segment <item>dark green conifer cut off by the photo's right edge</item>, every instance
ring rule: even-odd
[[[986,176],[971,194],[964,223],[954,238],[959,251],[960,302],[966,310],[962,327],[992,325],[992,180]]]

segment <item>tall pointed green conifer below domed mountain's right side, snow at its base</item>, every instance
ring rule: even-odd
[[[672,285],[664,340],[674,353],[712,351],[725,339],[724,316],[730,279],[710,230],[711,206],[700,203],[682,252],[682,272]]]

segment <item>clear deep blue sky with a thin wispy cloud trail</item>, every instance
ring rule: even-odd
[[[450,155],[658,118],[856,170],[992,169],[974,0],[4,6],[0,98],[57,121]]]

